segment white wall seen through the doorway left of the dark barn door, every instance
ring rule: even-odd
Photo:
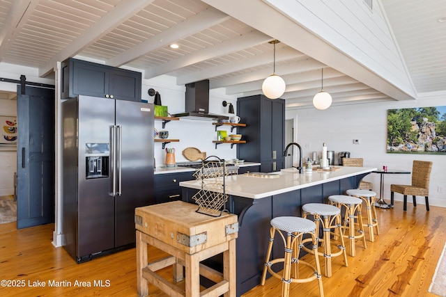
[[[17,101],[0,100],[0,115],[17,116]],[[3,127],[0,127],[3,129]],[[14,172],[17,171],[17,152],[0,151],[0,196],[13,195]]]

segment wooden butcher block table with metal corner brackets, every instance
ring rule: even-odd
[[[236,238],[238,218],[223,213],[213,217],[196,212],[198,206],[183,201],[135,209],[137,232],[137,288],[148,295],[148,282],[169,296],[236,296]],[[147,247],[155,246],[169,257],[148,263]],[[223,273],[203,264],[204,259],[223,253]],[[156,271],[173,265],[174,280],[183,280],[185,291]],[[200,292],[200,275],[216,284]]]

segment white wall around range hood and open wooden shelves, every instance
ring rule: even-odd
[[[162,105],[168,107],[171,114],[182,113],[185,111],[185,87],[176,86],[176,79],[174,77],[162,76],[155,79],[143,80],[142,98],[153,103],[154,97],[147,94],[149,88],[157,90],[161,95]],[[237,97],[224,94],[224,90],[210,90],[210,106],[209,112],[219,115],[230,115],[228,113],[228,106],[222,106],[222,102],[233,103],[236,110]],[[155,128],[162,131],[162,121],[155,120]],[[219,130],[226,130],[231,134],[229,127],[218,127]],[[229,144],[217,145],[212,141],[217,140],[217,132],[215,126],[210,120],[187,120],[180,118],[178,121],[171,121],[166,124],[164,130],[169,131],[169,138],[180,139],[178,143],[168,143],[166,147],[174,147],[176,150],[176,161],[188,161],[183,156],[182,152],[187,147],[197,147],[201,152],[206,152],[207,156],[218,156],[222,159],[236,158],[236,146],[231,149]],[[236,133],[236,130],[233,131]],[[243,145],[243,144],[241,144]],[[162,150],[162,143],[155,143],[155,161],[156,166],[164,165],[165,152]]]

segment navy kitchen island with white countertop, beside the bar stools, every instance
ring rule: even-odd
[[[284,169],[268,177],[233,175],[226,177],[229,195],[226,209],[238,215],[237,296],[260,284],[263,262],[270,236],[270,220],[277,216],[301,216],[301,206],[310,202],[327,203],[328,196],[357,188],[361,179],[376,168],[339,167],[312,174]],[[272,176],[277,175],[277,177]],[[182,199],[194,203],[192,196],[201,189],[201,181],[180,182]],[[283,257],[283,243],[276,241],[273,257]],[[221,269],[222,259],[214,259]],[[277,265],[279,268],[279,265]]]

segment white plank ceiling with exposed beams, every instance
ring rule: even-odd
[[[37,67],[40,76],[50,77],[57,61],[76,57],[131,67],[146,79],[171,75],[178,85],[210,79],[211,88],[243,96],[261,93],[263,79],[272,74],[268,42],[282,39],[286,41],[276,46],[276,72],[286,81],[282,98],[289,109],[312,105],[312,97],[321,89],[321,68],[324,90],[332,95],[333,104],[446,94],[446,22],[438,22],[446,17],[446,0],[374,1],[385,10],[385,23],[394,34],[413,89],[399,86],[394,78],[387,79],[348,54],[343,58],[362,67],[355,71],[339,67],[335,55],[330,60],[330,48],[333,53],[340,51],[334,45],[324,48],[323,56],[317,51],[313,55],[295,42],[287,44],[291,39],[279,38],[284,32],[293,34],[293,28],[275,34],[256,26],[249,15],[265,7],[277,13],[268,1],[250,0],[252,11],[241,12],[233,7],[237,1],[214,2],[218,1],[0,0],[0,62]],[[289,18],[281,15],[282,20]],[[317,33],[312,36],[321,40]],[[178,49],[169,47],[174,42]]]

